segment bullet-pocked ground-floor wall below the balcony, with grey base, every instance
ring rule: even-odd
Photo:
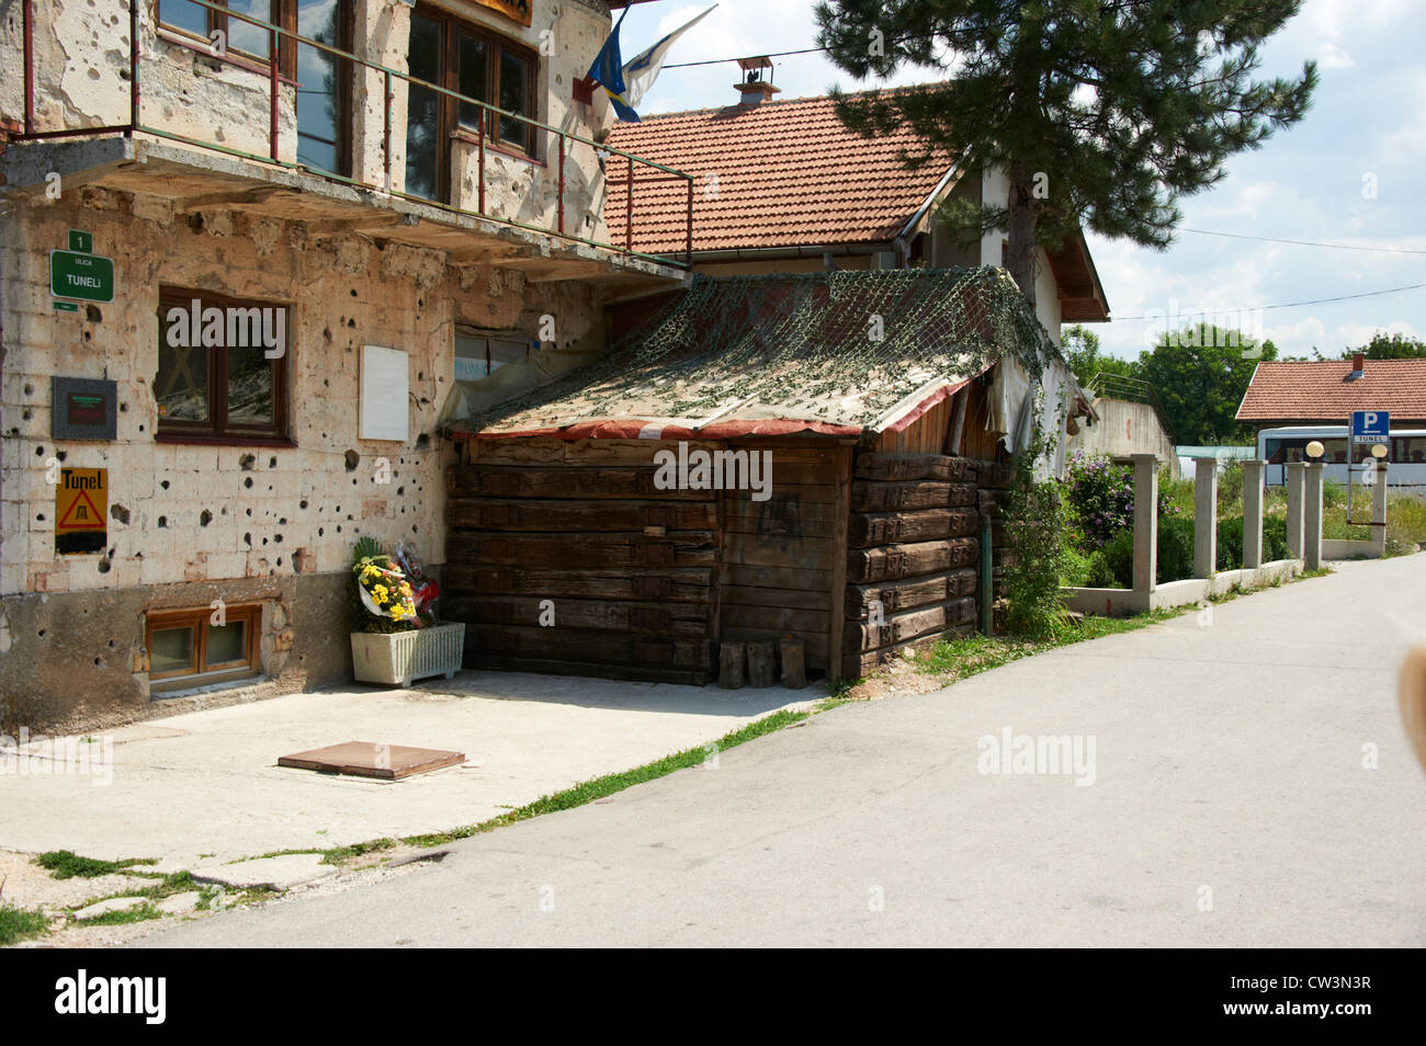
[[[93,252],[114,259],[113,302],[54,308],[48,252],[70,229],[90,232]],[[535,339],[550,315],[558,352],[602,342],[602,301],[589,284],[526,284],[516,269],[452,266],[442,252],[318,235],[301,222],[221,208],[175,214],[157,197],[88,188],[54,202],[17,198],[0,232],[6,725],[147,714],[144,614],[211,600],[262,604],[270,691],[349,678],[355,540],[405,537],[428,563],[443,557],[452,452],[436,423],[456,325]],[[155,442],[161,286],[288,306],[291,446]],[[409,353],[404,439],[359,437],[366,345]],[[113,440],[51,436],[56,375],[116,382]],[[56,553],[56,466],[107,469],[101,552]]]

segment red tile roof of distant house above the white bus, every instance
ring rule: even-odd
[[[1350,373],[1350,359],[1262,362],[1238,420],[1346,425],[1353,410],[1390,410],[1393,426],[1426,420],[1426,359],[1369,359]]]

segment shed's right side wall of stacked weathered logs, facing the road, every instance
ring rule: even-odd
[[[857,456],[843,675],[975,630],[981,470],[945,455]]]

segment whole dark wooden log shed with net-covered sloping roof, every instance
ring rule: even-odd
[[[854,678],[974,631],[981,513],[1010,479],[994,372],[1048,343],[1007,284],[697,278],[612,315],[605,361],[453,433],[445,616],[466,664],[703,684],[720,643],[794,637],[810,675]],[[937,296],[958,328],[913,322]],[[867,368],[873,314],[896,333]],[[660,482],[694,452],[761,455],[766,497]]]

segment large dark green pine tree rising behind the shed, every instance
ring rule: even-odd
[[[904,66],[941,83],[847,95],[841,120],[867,137],[910,128],[935,155],[997,165],[1008,207],[958,202],[944,218],[1008,235],[1005,261],[1035,304],[1035,248],[1088,227],[1165,248],[1176,201],[1225,177],[1224,162],[1303,117],[1315,63],[1253,80],[1259,46],[1301,0],[831,0],[819,44],[864,78]]]

